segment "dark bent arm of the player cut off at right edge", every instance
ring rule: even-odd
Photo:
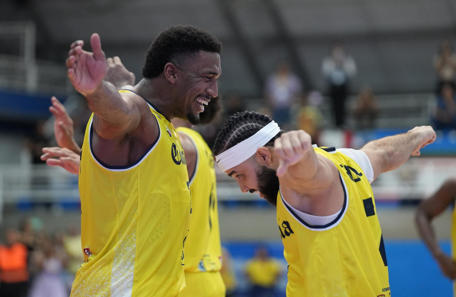
[[[421,202],[416,210],[415,223],[418,233],[425,242],[429,251],[439,263],[440,270],[450,279],[456,279],[456,264],[446,255],[435,238],[432,220],[440,215],[456,197],[456,178],[448,179],[434,195]]]

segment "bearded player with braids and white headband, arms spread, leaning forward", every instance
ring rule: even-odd
[[[236,113],[214,144],[219,167],[243,192],[277,207],[288,261],[288,297],[390,296],[382,231],[370,182],[434,142],[429,126],[361,150],[312,147],[268,116]]]

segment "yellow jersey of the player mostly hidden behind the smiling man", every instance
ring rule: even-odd
[[[195,172],[190,178],[192,219],[185,244],[185,271],[220,271],[222,248],[212,152],[198,132],[184,127],[176,130],[187,135],[197,149]]]

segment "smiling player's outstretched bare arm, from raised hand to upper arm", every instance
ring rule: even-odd
[[[130,96],[121,95],[112,83],[104,81],[107,64],[97,33],[90,37],[90,44],[93,52],[83,50],[83,41],[73,42],[67,58],[68,77],[95,114],[98,135],[116,138],[138,127],[140,112]]]

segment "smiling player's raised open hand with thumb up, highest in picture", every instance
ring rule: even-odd
[[[84,41],[73,42],[66,62],[73,87],[84,96],[96,90],[108,68],[97,33],[90,37],[90,45],[93,52],[83,50]]]

